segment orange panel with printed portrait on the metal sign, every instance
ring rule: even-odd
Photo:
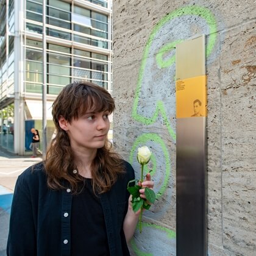
[[[207,76],[176,81],[176,118],[207,116]]]

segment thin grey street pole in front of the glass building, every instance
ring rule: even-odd
[[[43,120],[42,120],[42,132],[43,132],[43,157],[46,155],[47,149],[47,119],[46,119],[46,0],[43,0],[43,88],[42,88],[42,102],[43,102]]]

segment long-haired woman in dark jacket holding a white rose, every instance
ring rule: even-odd
[[[91,83],[69,84],[57,96],[46,159],[16,182],[7,255],[129,255],[140,212],[126,189],[133,168],[107,140],[114,108]],[[153,188],[150,174],[142,185]]]

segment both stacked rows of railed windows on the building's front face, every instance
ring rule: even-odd
[[[98,3],[96,3],[98,2]],[[106,1],[94,4],[104,6]],[[108,15],[71,3],[50,0],[46,5],[46,33],[60,38],[59,42],[47,44],[47,87],[49,94],[58,94],[63,85],[73,80],[88,80],[109,90],[108,54],[99,54],[68,46],[75,41],[99,49],[108,49]],[[26,31],[42,34],[42,1],[26,1]],[[29,34],[29,35],[30,35]],[[38,93],[42,83],[42,44],[27,39],[25,91]]]

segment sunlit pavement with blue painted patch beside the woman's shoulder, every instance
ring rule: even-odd
[[[0,256],[6,255],[10,208],[17,177],[41,157],[17,156],[0,148]]]

